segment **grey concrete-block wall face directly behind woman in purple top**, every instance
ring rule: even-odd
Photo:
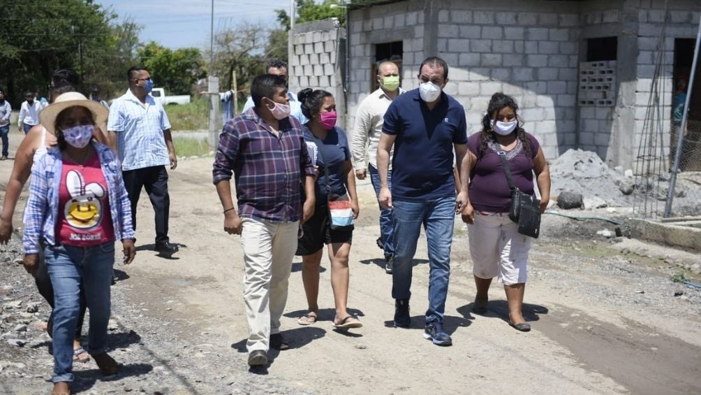
[[[470,133],[495,92],[515,97],[548,159],[574,147],[579,15],[564,1],[442,1],[437,55],[446,91],[463,103]]]

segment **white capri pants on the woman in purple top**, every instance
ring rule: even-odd
[[[526,282],[526,262],[532,239],[519,234],[508,213],[475,211],[475,223],[468,225],[472,273],[510,286]]]

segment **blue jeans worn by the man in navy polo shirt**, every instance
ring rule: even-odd
[[[455,222],[455,196],[428,201],[393,200],[395,236],[392,297],[411,297],[411,260],[421,225],[426,228],[428,261],[428,310],[426,323],[442,321],[450,280],[450,247]]]

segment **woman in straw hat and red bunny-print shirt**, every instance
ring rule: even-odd
[[[105,352],[110,314],[114,241],[123,243],[124,262],[134,259],[130,202],[121,166],[109,147],[93,140],[107,109],[81,93],[64,93],[39,114],[57,146],[34,163],[25,209],[24,265],[34,274],[40,244],[54,290],[53,394],[69,394],[73,381],[72,340],[83,287],[90,309],[88,353],[100,372],[118,364]]]

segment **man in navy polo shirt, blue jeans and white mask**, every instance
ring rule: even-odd
[[[459,211],[466,203],[456,200],[453,168],[454,163],[463,161],[467,150],[467,124],[463,106],[442,92],[448,82],[444,60],[424,60],[418,80],[418,89],[398,96],[385,114],[377,148],[379,201],[394,210],[394,324],[400,328],[411,326],[411,260],[424,225],[430,280],[423,337],[449,346],[452,340],[443,329],[443,313],[450,279],[450,248],[456,209]],[[387,171],[393,145],[390,191]]]

